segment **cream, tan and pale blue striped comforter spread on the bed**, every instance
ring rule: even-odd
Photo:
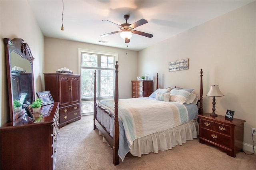
[[[114,114],[114,100],[103,100],[99,104]],[[177,127],[197,119],[197,115],[198,107],[195,104],[182,105],[178,102],[157,101],[151,97],[119,99],[118,119],[122,122],[120,123],[119,150],[126,154],[135,139]],[[113,125],[104,122],[104,117],[98,114],[97,119],[105,124],[103,126],[113,136]],[[120,156],[122,160],[124,156]]]

